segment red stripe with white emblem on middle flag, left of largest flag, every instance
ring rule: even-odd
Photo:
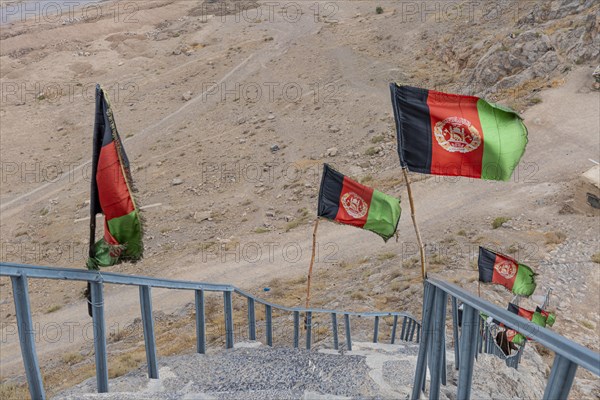
[[[344,177],[340,207],[335,220],[362,228],[367,223],[373,189]]]

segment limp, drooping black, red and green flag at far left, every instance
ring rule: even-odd
[[[142,224],[132,195],[129,160],[119,137],[106,93],[96,87],[96,120],[92,157],[90,210],[95,227],[97,213],[104,214],[104,237],[90,249],[89,269],[108,267],[143,254]]]

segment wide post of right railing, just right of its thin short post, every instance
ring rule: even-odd
[[[479,312],[464,304],[463,321],[460,335],[460,369],[458,370],[458,400],[471,398],[473,382],[473,363],[477,354],[477,336],[479,335]]]

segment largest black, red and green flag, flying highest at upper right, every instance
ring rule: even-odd
[[[400,164],[422,174],[507,181],[527,128],[509,108],[475,96],[390,85]]]

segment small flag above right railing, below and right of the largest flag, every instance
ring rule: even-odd
[[[479,247],[479,281],[504,286],[519,296],[531,296],[535,291],[535,273],[525,264],[483,247]]]

